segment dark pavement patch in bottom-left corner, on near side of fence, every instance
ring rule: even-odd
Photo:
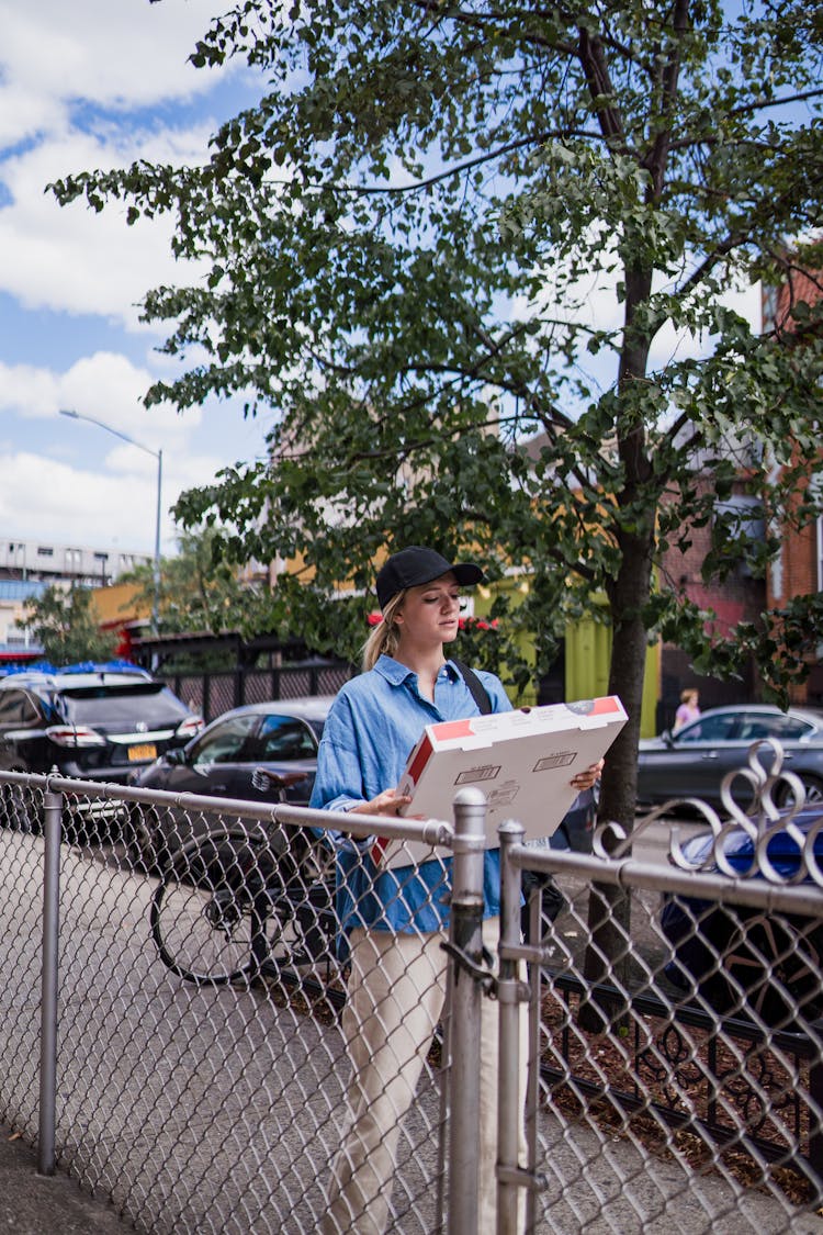
[[[0,1231],[14,1235],[123,1235],[131,1223],[58,1171],[37,1174],[37,1153],[0,1126]]]

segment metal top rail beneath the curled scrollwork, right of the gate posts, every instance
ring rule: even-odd
[[[503,825],[505,827],[505,825]],[[728,904],[751,905],[777,913],[796,913],[823,918],[823,888],[817,884],[770,883],[767,874],[737,876],[705,871],[684,871],[631,857],[605,860],[592,853],[570,853],[545,846],[511,845],[507,855],[519,869],[545,871],[550,874],[573,874],[592,883],[647,892],[665,892],[691,899],[718,900]]]

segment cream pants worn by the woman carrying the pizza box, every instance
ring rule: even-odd
[[[500,920],[486,919],[484,942],[497,947]],[[332,1163],[325,1235],[389,1230],[397,1140],[428,1044],[440,1019],[448,957],[445,935],[354,930],[343,1035],[353,1066],[347,1123]],[[479,1231],[496,1230],[497,1004],[484,997],[480,1072]],[[521,1016],[521,1110],[526,1095],[526,1016]],[[521,1124],[521,1157],[526,1146]],[[521,1205],[521,1214],[524,1207]],[[521,1216],[522,1225],[522,1216]]]

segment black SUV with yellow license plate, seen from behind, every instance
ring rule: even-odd
[[[0,679],[0,771],[125,782],[204,721],[136,666],[68,666]]]

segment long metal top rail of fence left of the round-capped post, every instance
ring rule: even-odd
[[[255,803],[247,798],[212,798],[199,793],[169,793],[165,789],[139,789],[127,784],[100,781],[83,781],[58,774],[43,776],[32,772],[0,772],[0,785],[20,784],[42,789],[44,793],[75,794],[109,802],[137,802],[143,805],[164,806],[175,810],[202,811],[254,820],[260,824],[286,824],[295,827],[315,827],[322,831],[337,829],[362,840],[385,836],[387,840],[420,841],[432,847],[454,846],[454,827],[440,819],[401,819],[397,815],[358,815],[352,811],[315,810],[286,803]],[[345,823],[343,823],[343,820]]]

